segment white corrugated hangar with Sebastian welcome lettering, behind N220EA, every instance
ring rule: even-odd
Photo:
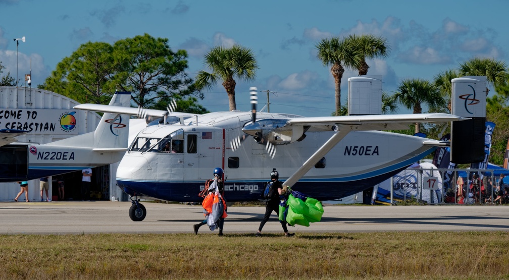
[[[46,144],[79,134],[93,132],[101,116],[95,112],[74,110],[76,101],[54,92],[31,87],[0,86],[0,129],[21,129],[30,132],[17,137],[19,142]],[[60,117],[75,111],[73,130],[61,128]],[[91,196],[96,200],[124,198],[116,185],[118,163],[93,168]],[[81,170],[64,174],[65,199],[77,199],[81,191]],[[50,181],[49,195],[58,197],[56,184]],[[0,201],[12,201],[20,191],[16,182],[0,182]],[[124,196],[123,196],[124,194]],[[29,199],[41,201],[39,180],[29,181]],[[44,194],[46,199],[46,194]],[[20,198],[24,201],[24,194]]]

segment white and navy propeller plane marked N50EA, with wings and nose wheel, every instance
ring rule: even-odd
[[[256,112],[257,89],[250,90],[251,112],[168,114],[171,110],[94,104],[74,108],[162,117],[136,135],[117,169],[117,184],[131,196],[133,221],[142,221],[147,214],[139,198],[201,201],[198,194],[215,167],[224,170],[225,198],[230,202],[259,200],[273,168],[286,179],[285,185],[318,200],[349,196],[397,174],[437,146],[448,145],[377,130],[468,119],[442,113],[330,117],[263,113]]]

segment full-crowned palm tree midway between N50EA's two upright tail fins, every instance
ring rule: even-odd
[[[428,80],[405,79],[398,86],[394,97],[414,114],[422,113],[422,104],[428,107],[444,106],[445,101],[438,87]],[[415,133],[420,132],[420,123],[415,123]]]

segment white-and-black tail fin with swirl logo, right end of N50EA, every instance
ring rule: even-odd
[[[470,119],[451,123],[450,161],[456,164],[482,162],[485,157],[486,76],[465,76],[451,82],[453,115]]]

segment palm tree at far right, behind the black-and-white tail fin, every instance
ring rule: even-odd
[[[507,83],[507,65],[493,58],[471,58],[460,64],[459,73],[461,76],[486,76],[487,83],[494,87]],[[486,95],[488,91],[486,87]]]

